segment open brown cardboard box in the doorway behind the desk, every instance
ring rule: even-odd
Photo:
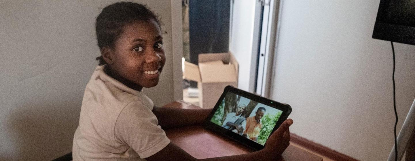
[[[199,65],[184,63],[183,79],[198,82],[202,108],[213,108],[227,85],[238,85],[238,62],[232,53],[199,54]]]

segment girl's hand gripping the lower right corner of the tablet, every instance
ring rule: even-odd
[[[264,149],[261,152],[266,157],[266,161],[275,161],[284,150],[290,145],[290,129],[293,124],[292,119],[285,120],[280,127],[266,141]]]

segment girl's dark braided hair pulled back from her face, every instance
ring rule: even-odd
[[[95,32],[97,34],[98,47],[113,48],[115,41],[120,38],[122,29],[134,21],[154,21],[160,25],[158,17],[147,8],[146,5],[134,2],[117,2],[105,7],[97,17]],[[98,65],[107,64],[102,55],[97,57]]]

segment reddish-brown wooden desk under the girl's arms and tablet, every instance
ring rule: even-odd
[[[181,100],[168,103],[163,107],[200,109],[198,106]],[[239,155],[253,151],[231,139],[206,130],[202,126],[188,126],[168,129],[166,130],[166,135],[171,142],[176,144],[178,147],[181,147],[184,151],[188,152],[191,156],[197,159]],[[323,159],[321,157],[292,145],[288,146],[286,151],[282,154],[282,161],[322,160]]]

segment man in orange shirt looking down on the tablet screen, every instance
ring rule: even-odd
[[[264,107],[259,107],[254,116],[247,118],[245,131],[242,136],[256,142],[258,141],[259,132],[262,128],[261,118],[264,116],[265,111]]]

